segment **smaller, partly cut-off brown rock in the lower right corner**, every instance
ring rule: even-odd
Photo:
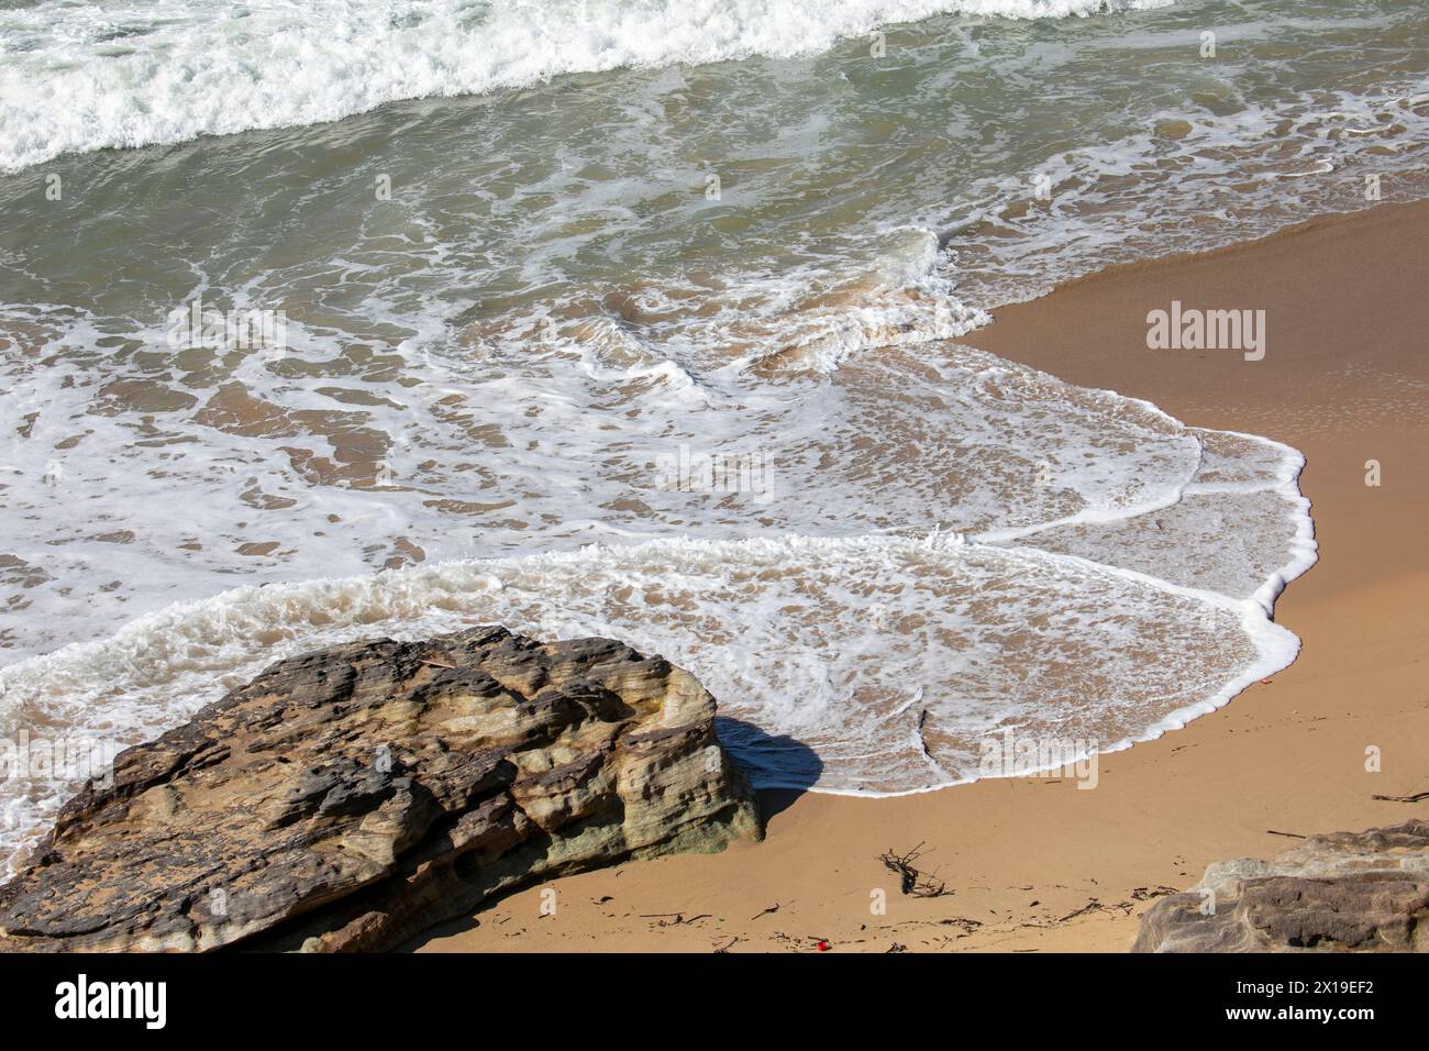
[[[1133,952],[1429,951],[1429,824],[1305,839],[1206,869],[1142,917]]]

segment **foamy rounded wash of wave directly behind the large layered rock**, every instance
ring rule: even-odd
[[[973,778],[976,742],[1005,725],[1145,739],[1298,648],[1252,601],[1080,556],[937,532],[674,538],[243,588],[13,665],[0,685],[31,718],[137,739],[276,658],[484,622],[664,653],[725,718],[775,738],[742,755],[760,784],[870,794]],[[926,755],[909,732],[925,712]],[[790,759],[785,736],[806,751]]]

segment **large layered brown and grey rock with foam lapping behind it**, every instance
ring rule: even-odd
[[[71,799],[0,949],[382,949],[517,885],[757,838],[714,702],[606,639],[283,661]]]

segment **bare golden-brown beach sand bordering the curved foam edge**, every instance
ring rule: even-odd
[[[1265,309],[1265,360],[1149,350],[1170,300]],[[769,794],[767,839],[562,879],[424,951],[1123,951],[1157,888],[1266,857],[1270,834],[1396,824],[1429,804],[1429,203],[1380,204],[1203,256],[1117,267],[997,312],[969,342],[1186,423],[1300,449],[1320,562],[1276,619],[1305,648],[1229,706],[1102,756],[1095,791],[996,779],[899,799]],[[1378,460],[1382,485],[1365,483]],[[1382,771],[1366,771],[1378,746]],[[876,855],[919,842],[955,892],[903,897]],[[886,892],[885,915],[872,912]]]

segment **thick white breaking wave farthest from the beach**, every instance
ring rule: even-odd
[[[339,120],[562,73],[826,50],[965,11],[1087,16],[1170,0],[44,0],[0,10],[0,169],[61,153]]]

